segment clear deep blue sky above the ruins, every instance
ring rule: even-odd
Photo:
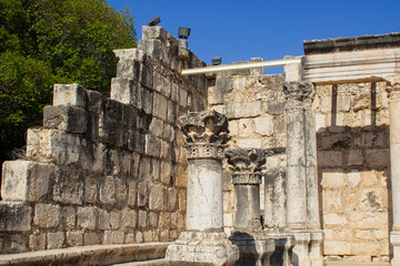
[[[141,27],[160,17],[167,31],[191,28],[189,48],[206,63],[303,54],[302,41],[400,31],[400,0],[107,0],[129,7],[138,40]]]

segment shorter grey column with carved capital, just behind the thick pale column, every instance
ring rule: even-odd
[[[266,153],[260,149],[232,149],[226,152],[237,196],[234,234],[229,239],[239,247],[238,265],[269,266],[274,241],[261,232],[260,184]]]

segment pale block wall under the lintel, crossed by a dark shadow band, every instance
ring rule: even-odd
[[[313,108],[323,254],[388,262],[391,204],[386,82],[318,85]]]

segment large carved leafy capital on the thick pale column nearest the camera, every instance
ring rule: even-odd
[[[179,117],[186,139],[188,158],[223,158],[229,141],[227,116],[213,110]]]

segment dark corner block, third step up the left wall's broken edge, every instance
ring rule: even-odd
[[[43,126],[71,133],[84,133],[88,129],[89,115],[82,108],[71,105],[46,106]]]

